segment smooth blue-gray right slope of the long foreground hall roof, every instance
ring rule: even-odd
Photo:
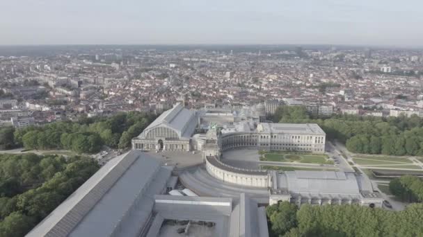
[[[150,185],[154,184],[156,175],[166,177],[159,187],[159,191],[161,191],[170,177],[170,170],[168,172],[162,170],[157,159],[143,153],[79,222],[70,236],[111,236],[118,226],[124,224],[122,221],[125,221],[129,212],[134,211],[134,204],[140,202]],[[150,215],[153,202],[145,204],[147,207],[142,213],[147,218]],[[139,224],[138,227],[141,228],[141,223]]]

